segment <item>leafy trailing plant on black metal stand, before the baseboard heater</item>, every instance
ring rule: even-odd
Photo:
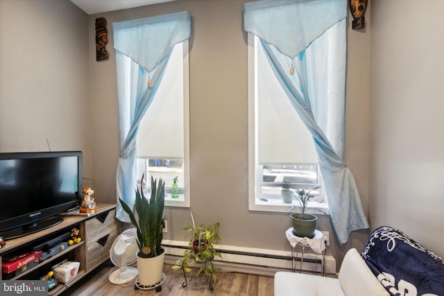
[[[185,250],[182,258],[176,261],[176,265],[172,266],[173,270],[180,270],[180,268],[182,268],[185,275],[185,272],[191,271],[190,266],[196,263],[201,263],[200,268],[197,271],[197,276],[200,275],[200,273],[209,276],[210,288],[212,288],[211,282],[216,282],[217,269],[212,261],[216,256],[221,257],[221,252],[214,249],[216,241],[221,239],[218,233],[219,227],[219,222],[210,226],[199,225],[198,227],[195,227],[193,225],[185,227],[184,230],[187,232],[193,232],[193,236],[189,241],[188,249]],[[208,266],[207,263],[210,263],[210,266]]]

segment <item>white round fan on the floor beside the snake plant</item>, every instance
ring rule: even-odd
[[[117,236],[110,249],[111,262],[116,265],[110,270],[110,283],[128,284],[137,276],[137,268],[132,267],[137,261],[137,229],[127,229]]]

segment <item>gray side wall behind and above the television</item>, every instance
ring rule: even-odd
[[[70,1],[0,0],[0,151],[82,150],[92,175],[88,17]]]

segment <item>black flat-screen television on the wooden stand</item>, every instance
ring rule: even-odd
[[[78,208],[82,152],[0,153],[0,236],[17,238],[61,223]]]

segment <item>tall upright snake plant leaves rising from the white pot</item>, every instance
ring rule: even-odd
[[[144,175],[142,175],[142,184]],[[137,229],[137,245],[139,246],[139,256],[151,258],[162,254],[160,243],[162,243],[162,216],[165,203],[165,188],[162,179],[156,180],[151,177],[151,198],[148,200],[144,196],[144,191],[136,189],[135,211],[137,219],[128,204],[119,198],[123,210],[130,216],[131,223]]]

